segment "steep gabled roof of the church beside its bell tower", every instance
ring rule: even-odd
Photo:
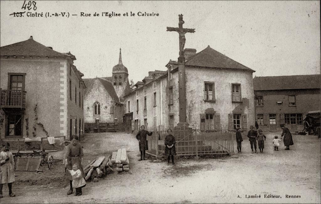
[[[83,79],[85,85],[86,85],[86,89],[84,89],[84,95],[87,94],[89,88],[91,87],[92,83],[94,83],[94,81],[96,79],[99,79],[99,81],[101,82],[101,84],[104,86],[104,88],[106,89],[106,91],[108,92],[108,94],[110,95],[110,97],[118,104],[122,104],[119,101],[119,97],[117,96],[117,93],[115,91],[115,88],[113,86],[113,84],[111,83],[111,77],[102,77],[102,78],[86,78]]]

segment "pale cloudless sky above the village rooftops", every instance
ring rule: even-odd
[[[28,3],[29,1],[25,1]],[[111,76],[119,48],[129,79],[167,70],[178,58],[178,27],[183,14],[185,48],[208,45],[254,69],[255,76],[320,74],[320,1],[0,1],[0,45],[33,39],[58,52],[71,52],[83,78]],[[32,3],[32,2],[31,2]],[[23,17],[9,15],[23,12]],[[27,17],[27,12],[43,17]],[[69,17],[45,13],[69,12]],[[80,16],[81,12],[91,16]],[[97,12],[100,16],[93,16]],[[121,16],[101,16],[102,12]],[[123,16],[128,12],[129,16]],[[130,12],[135,16],[130,16]],[[137,16],[138,12],[159,16]],[[77,16],[72,16],[77,14]]]

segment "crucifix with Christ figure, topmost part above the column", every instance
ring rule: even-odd
[[[184,24],[183,15],[178,15],[178,28],[166,27],[167,31],[176,31],[179,34],[179,57],[178,62],[185,62],[184,59],[184,46],[185,46],[185,33],[195,33],[195,29],[183,28]],[[183,61],[182,61],[183,60]]]

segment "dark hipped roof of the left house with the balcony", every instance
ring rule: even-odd
[[[37,57],[74,57],[66,53],[59,53],[33,40],[32,36],[28,40],[13,43],[0,47],[1,56],[37,56]]]

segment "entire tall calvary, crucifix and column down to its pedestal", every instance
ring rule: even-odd
[[[195,29],[183,28],[183,15],[178,15],[178,28],[167,27],[167,31],[176,31],[179,34],[179,57],[178,57],[178,101],[179,101],[179,124],[188,126],[186,123],[186,75],[185,75],[185,33],[195,33]]]

